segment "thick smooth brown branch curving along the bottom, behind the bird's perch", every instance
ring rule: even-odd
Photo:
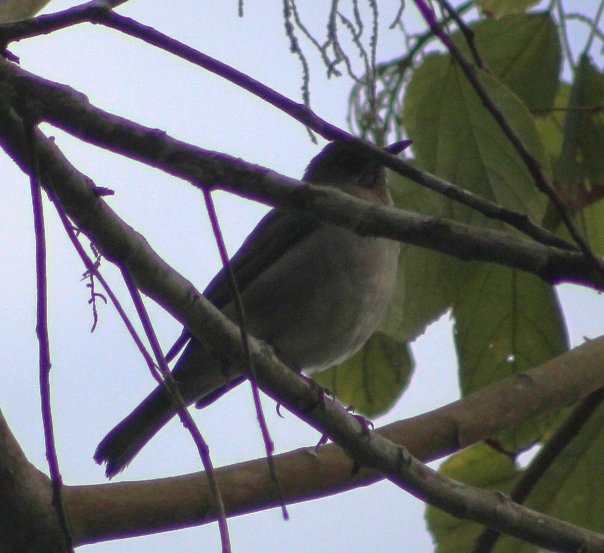
[[[526,374],[493,384],[460,401],[379,428],[422,461],[433,461],[536,416],[576,403],[604,385],[600,360],[604,338],[586,342]],[[572,367],[572,370],[569,370]],[[313,447],[275,457],[286,502],[301,502],[367,486],[384,476],[353,462],[338,445]],[[228,516],[279,505],[266,459],[216,470]],[[65,488],[77,542],[150,534],[216,520],[204,473],[97,486]],[[204,508],[205,505],[205,508]]]

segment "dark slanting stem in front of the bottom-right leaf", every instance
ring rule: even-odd
[[[564,422],[557,428],[553,436],[545,442],[535,459],[528,465],[527,470],[516,480],[509,496],[512,501],[522,505],[539,483],[545,471],[551,467],[564,448],[575,438],[591,415],[604,401],[604,388],[591,392],[585,399],[568,415]],[[500,532],[485,528],[476,538],[471,553],[489,553],[495,547],[500,537]]]

